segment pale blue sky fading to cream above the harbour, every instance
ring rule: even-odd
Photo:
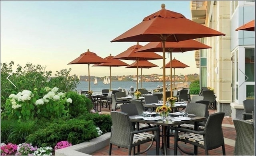
[[[1,1],[1,62],[13,60],[15,67],[27,62],[40,64],[53,73],[72,68],[71,74],[88,75],[87,64],[67,64],[87,49],[105,58],[135,45],[110,41],[160,10],[162,3],[191,20],[190,1]],[[190,66],[176,69],[176,74],[199,73],[194,51],[174,53],[172,57]],[[167,53],[166,58],[167,63]],[[162,74],[162,60],[150,62],[159,67],[143,69],[142,74]],[[128,74],[136,74],[136,69],[112,67],[113,76]],[[166,74],[170,74],[169,68]],[[108,76],[109,68],[91,65],[90,75]]]

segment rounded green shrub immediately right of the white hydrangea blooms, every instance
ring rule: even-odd
[[[69,114],[72,117],[77,117],[92,109],[92,101],[84,95],[79,95],[77,92],[67,92],[67,98],[72,99],[72,103],[68,106]]]

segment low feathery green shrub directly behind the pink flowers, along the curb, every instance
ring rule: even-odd
[[[54,147],[57,142],[62,140],[79,144],[96,137],[98,137],[98,132],[92,120],[58,119],[52,121],[46,128],[30,134],[26,138],[26,142],[32,142],[33,145],[38,147]]]

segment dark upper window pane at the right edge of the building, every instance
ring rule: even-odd
[[[245,79],[246,82],[254,82],[254,48],[245,49]]]

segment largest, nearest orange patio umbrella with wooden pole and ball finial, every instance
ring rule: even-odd
[[[180,13],[165,9],[155,12],[142,20],[111,42],[162,42],[163,58],[165,58],[165,42],[179,42],[188,39],[225,35],[214,29],[188,20]],[[163,59],[163,86],[165,85],[165,59]],[[166,88],[163,88],[164,105],[166,101]],[[171,92],[172,93],[172,92]],[[166,149],[166,148],[165,148]],[[166,153],[166,151],[165,151]]]

